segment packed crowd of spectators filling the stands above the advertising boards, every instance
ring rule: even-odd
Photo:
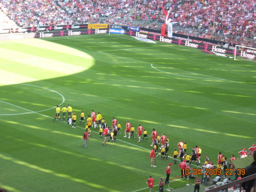
[[[160,29],[165,22],[163,6],[178,22],[176,33],[210,39],[214,36],[232,43],[256,37],[254,1],[136,0],[136,9],[134,3],[135,0],[1,0],[0,10],[20,27],[94,23],[104,18],[104,22],[112,24],[154,23],[146,27]]]

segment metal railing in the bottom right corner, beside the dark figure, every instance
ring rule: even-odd
[[[253,175],[249,175],[249,176],[247,176],[243,179],[239,179],[239,180],[227,183],[225,185],[221,185],[219,187],[209,189],[209,190],[207,190],[207,192],[228,192],[229,187],[232,187],[232,186],[238,185],[238,184],[240,184],[239,185],[239,192],[241,192],[242,191],[242,183],[248,182],[248,181],[251,181],[251,180],[254,180],[254,186],[252,187],[250,192],[256,192],[256,173],[253,174]]]

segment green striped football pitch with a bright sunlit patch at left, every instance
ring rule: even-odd
[[[0,42],[0,188],[8,192],[147,192],[173,159],[150,167],[151,138],[123,138],[127,120],[151,135],[202,148],[213,163],[256,141],[256,64],[126,35],[87,35]],[[77,128],[52,121],[70,104]],[[121,122],[115,143],[91,129],[83,148],[80,113]],[[177,148],[178,149],[178,148]],[[195,166],[193,166],[195,167]],[[180,176],[178,164],[170,178]],[[190,184],[194,180],[189,181]],[[172,179],[171,188],[185,179]],[[165,186],[165,189],[167,187]],[[153,192],[158,191],[155,186]]]

